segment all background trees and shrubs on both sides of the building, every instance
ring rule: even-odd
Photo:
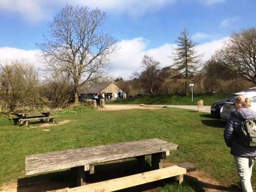
[[[78,90],[89,82],[106,81],[104,74],[114,54],[117,39],[103,29],[106,14],[88,7],[66,5],[49,23],[39,60],[46,65],[44,77],[25,61],[7,61],[0,65],[0,105],[9,111],[19,107],[65,107],[78,103]],[[128,95],[189,94],[194,91],[234,92],[256,83],[256,29],[233,33],[225,46],[202,62],[185,28],[177,39],[174,64],[160,67],[151,55],[144,55],[142,71],[115,83]],[[103,80],[102,80],[103,79]]]

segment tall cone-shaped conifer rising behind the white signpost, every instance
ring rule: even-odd
[[[178,47],[175,49],[174,66],[181,73],[181,79],[185,81],[185,93],[187,94],[187,82],[189,78],[198,74],[199,62],[202,55],[197,55],[194,47],[197,43],[194,43],[189,37],[189,31],[185,28],[181,31],[181,36],[178,37]]]

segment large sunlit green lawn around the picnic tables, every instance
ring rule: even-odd
[[[54,115],[57,121],[71,122],[26,129],[0,119],[0,186],[25,177],[26,155],[147,138],[179,145],[166,161],[190,162],[223,185],[238,182],[233,157],[223,141],[225,124],[210,114],[182,109],[98,111],[77,107]],[[255,179],[253,182],[255,186]],[[198,191],[195,187],[200,185],[185,180],[181,186],[166,185],[162,192]]]

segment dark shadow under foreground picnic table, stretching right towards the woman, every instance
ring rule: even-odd
[[[138,169],[138,162],[136,160],[96,165],[95,173],[91,175],[86,175],[86,182],[101,182],[109,179],[138,174],[149,170],[151,170],[151,168],[148,163],[143,167],[143,169]],[[41,192],[65,189],[67,187],[72,188],[75,187],[74,181],[75,179],[72,177],[70,170],[35,175],[32,177],[18,179],[17,192]],[[189,175],[185,175],[184,181],[185,182],[182,185],[190,186],[196,192],[205,191],[205,188],[230,192],[239,191],[235,186],[226,187],[213,185],[210,183],[199,181],[197,178],[191,177]],[[118,190],[118,192],[156,192],[161,190],[161,187],[164,187],[165,185],[177,185],[174,183],[174,178],[168,178],[156,182],[150,182],[144,185]],[[175,189],[179,191],[179,185],[175,186]]]

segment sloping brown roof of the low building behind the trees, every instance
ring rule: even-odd
[[[101,82],[101,83],[87,83],[81,89],[79,89],[79,94],[94,94],[99,93],[107,86],[109,86],[111,82]]]

